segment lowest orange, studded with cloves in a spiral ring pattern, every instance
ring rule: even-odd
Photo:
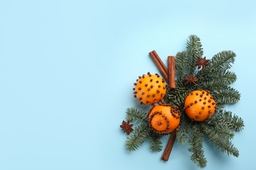
[[[181,112],[175,105],[159,103],[148,112],[149,126],[160,135],[168,135],[178,130],[181,120]]]

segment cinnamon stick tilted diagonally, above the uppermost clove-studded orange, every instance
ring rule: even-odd
[[[165,81],[169,82],[167,67],[164,65],[163,61],[161,61],[161,59],[158,56],[158,54],[156,53],[156,51],[153,50],[149,54],[150,54],[150,57],[153,59],[154,63],[156,64],[156,67],[158,67],[158,69],[159,69],[161,75],[163,76],[163,78],[165,79]]]

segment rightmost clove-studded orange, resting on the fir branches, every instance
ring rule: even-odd
[[[186,95],[184,110],[191,120],[198,122],[208,120],[216,109],[215,98],[209,91],[196,90]]]

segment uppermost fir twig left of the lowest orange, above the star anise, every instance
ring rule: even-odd
[[[140,124],[140,122],[148,122],[148,116],[146,112],[132,107],[127,108],[126,119],[131,122],[137,121],[137,124]]]

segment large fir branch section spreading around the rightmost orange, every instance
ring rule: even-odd
[[[226,104],[237,103],[240,100],[240,93],[228,86],[235,82],[237,78],[235,73],[228,70],[234,63],[236,54],[232,51],[219,52],[211,58],[208,67],[196,70],[194,66],[195,56],[203,55],[202,44],[199,41],[200,39],[196,35],[191,35],[187,42],[186,51],[177,53],[175,60],[177,90],[168,91],[165,101],[174,103],[181,108],[184,105],[184,94],[186,95],[200,88],[211,92],[211,95],[216,98],[216,105],[219,108],[223,108]],[[192,68],[195,70],[193,71]],[[198,78],[196,85],[187,86],[184,84],[186,73],[196,74]],[[232,116],[231,112],[223,110],[215,113],[215,116],[207,124],[191,122],[184,111],[182,111],[182,117],[181,127],[177,131],[177,140],[180,143],[190,144],[188,149],[192,152],[190,159],[196,165],[203,168],[207,162],[203,156],[202,141],[200,141],[203,139],[203,135],[220,148],[222,152],[226,152],[228,155],[239,155],[238,149],[234,147],[230,139],[233,139],[234,131],[240,131],[244,128],[242,118]]]

